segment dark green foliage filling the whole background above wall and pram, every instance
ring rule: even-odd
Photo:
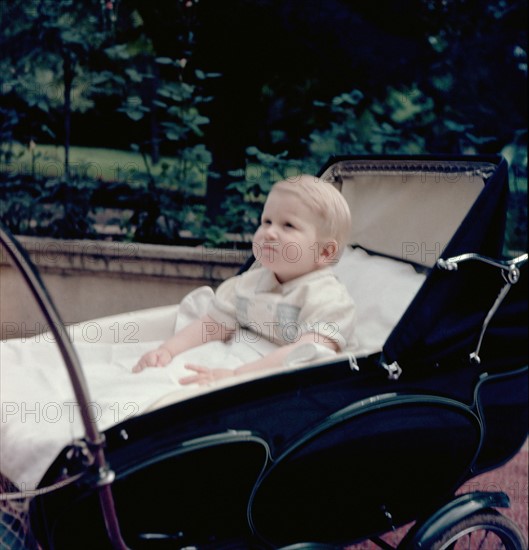
[[[17,142],[31,154],[27,173],[15,174],[8,168],[0,180],[0,214],[15,232],[75,238],[95,235],[98,201],[106,195],[132,211],[120,218],[130,239],[175,243],[192,234],[210,245],[235,242],[248,246],[271,184],[301,172],[314,173],[332,155],[502,152],[511,163],[513,182],[509,247],[526,248],[527,131],[519,130],[526,123],[527,40],[518,22],[518,15],[526,9],[522,4],[495,0],[482,9],[463,0],[419,0],[414,13],[407,13],[416,19],[409,22],[405,37],[424,54],[414,60],[416,71],[390,70],[392,64],[405,68],[412,62],[397,50],[391,56],[384,51],[380,57],[366,40],[354,56],[342,58],[348,63],[347,74],[333,79],[337,65],[334,59],[331,63],[334,56],[328,55],[333,50],[327,49],[332,47],[332,37],[318,43],[316,51],[315,35],[306,31],[277,36],[275,45],[270,45],[271,59],[267,59],[260,52],[257,35],[252,35],[255,43],[245,43],[231,32],[235,25],[223,39],[237,48],[245,43],[251,52],[245,52],[246,58],[233,55],[236,50],[228,47],[222,52],[231,55],[197,61],[199,22],[203,24],[208,13],[231,17],[225,15],[226,10],[215,8],[214,2],[199,12],[198,3],[136,3],[132,10],[120,0],[4,3],[0,10],[0,163],[9,167],[17,159]],[[248,21],[254,22],[263,13],[270,16],[272,12],[266,10],[279,4],[240,2],[237,5],[244,10],[237,16],[250,15],[255,19]],[[341,15],[354,15],[349,23],[358,25],[355,28],[368,23],[388,43],[398,44],[408,32],[394,21],[385,21],[382,10],[369,3],[353,8],[342,4],[343,14],[326,14],[329,27],[332,21],[340,24]],[[310,23],[311,6],[306,7],[296,18],[301,30]],[[284,3],[282,13],[290,8]],[[388,9],[396,13],[401,8],[388,5]],[[274,17],[279,20],[279,13]],[[388,23],[390,32],[385,27]],[[209,24],[213,29],[222,26],[217,20]],[[294,34],[296,55],[286,51]],[[210,38],[207,31],[205,36]],[[399,40],[393,42],[395,37]],[[269,42],[269,36],[265,38]],[[310,43],[307,49],[303,49],[305,42]],[[219,51],[223,46],[224,42],[219,44]],[[346,47],[345,42],[339,42],[339,47]],[[202,48],[203,56],[206,50]],[[307,52],[314,59],[304,62]],[[257,55],[263,57],[257,59]],[[247,58],[255,58],[251,68],[241,65],[241,59]],[[326,73],[330,78],[321,76],[318,58],[333,67]],[[204,60],[210,63],[207,69]],[[208,143],[211,148],[214,145],[208,136],[209,117],[219,112],[211,102],[218,99],[215,93],[222,95],[214,86],[221,76],[219,67],[230,69],[224,73],[230,79],[225,90],[250,98],[240,112],[227,111],[234,141],[251,119],[248,125],[255,127],[248,135],[255,147],[244,143],[234,153],[247,147],[244,166],[221,174],[231,183],[223,214],[210,224],[204,192],[208,181],[215,184],[217,174],[211,166],[224,151],[216,149],[217,158],[213,158],[208,148]],[[346,89],[358,86],[362,91],[344,92],[340,89],[346,87],[344,81]],[[261,95],[252,96],[252,90],[260,90]],[[316,90],[324,99],[313,102]],[[141,176],[138,170],[134,178],[116,170],[116,179],[121,181],[107,182],[104,188],[97,178],[87,178],[82,166],[76,171],[69,162],[66,129],[72,113],[99,114],[101,105],[112,116],[119,109],[117,116],[126,128],[121,131],[118,125],[120,133],[127,135],[144,164]],[[231,125],[235,119],[239,126]],[[213,135],[218,135],[218,128]],[[61,175],[39,177],[35,141],[64,146]],[[230,154],[233,149],[226,148]],[[225,166],[238,165],[231,159],[222,160]]]

